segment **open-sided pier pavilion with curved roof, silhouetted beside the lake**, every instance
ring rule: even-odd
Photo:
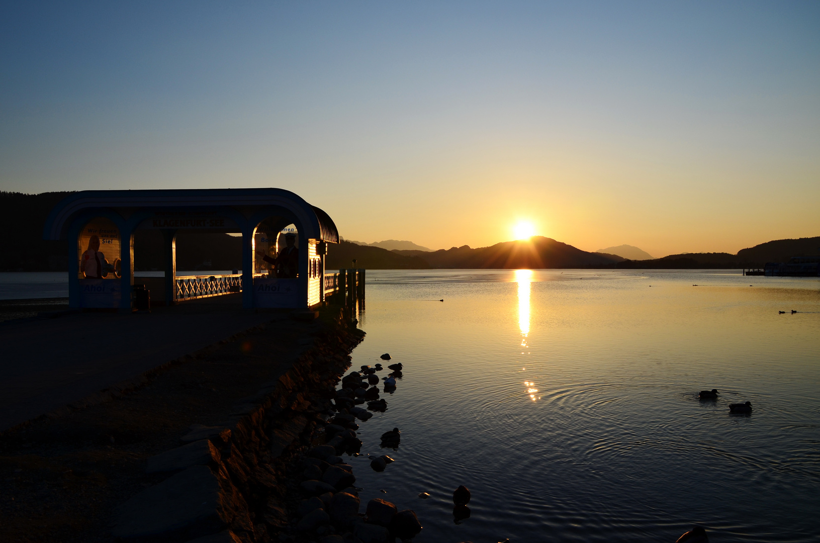
[[[298,274],[276,277],[263,258],[270,262],[283,249],[279,233],[291,224],[298,239]],[[311,308],[325,299],[327,244],[339,243],[330,216],[285,189],[84,190],[58,203],[43,228],[45,240],[69,240],[71,308],[132,310],[139,229],[162,232],[168,305],[241,290],[244,308]],[[176,236],[183,230],[241,234],[241,274],[177,277]],[[88,255],[99,253],[105,262],[97,258],[89,264]]]

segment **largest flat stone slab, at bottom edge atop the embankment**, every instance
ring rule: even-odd
[[[113,536],[149,539],[218,532],[232,515],[211,469],[194,466],[134,495],[116,508],[116,517]]]

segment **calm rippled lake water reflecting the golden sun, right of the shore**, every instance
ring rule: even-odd
[[[389,352],[404,376],[360,436],[362,453],[396,462],[381,473],[351,462],[362,504],[417,512],[415,541],[675,541],[695,523],[712,541],[818,541],[817,279],[424,270],[367,280],[353,369]],[[712,388],[717,400],[698,399]],[[747,400],[751,415],[728,413]],[[379,449],[394,426],[399,450]],[[460,484],[471,518],[457,524]]]

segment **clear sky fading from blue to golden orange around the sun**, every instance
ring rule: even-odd
[[[280,187],[346,239],[820,235],[820,2],[16,2],[0,189]]]

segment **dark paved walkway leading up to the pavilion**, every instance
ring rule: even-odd
[[[272,318],[227,294],[146,314],[0,323],[0,431]]]

